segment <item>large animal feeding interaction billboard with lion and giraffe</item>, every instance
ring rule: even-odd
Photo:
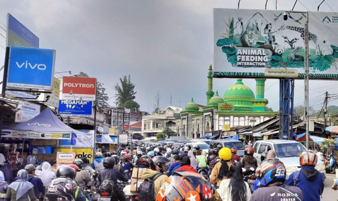
[[[302,13],[285,10],[214,8],[213,76],[304,79]],[[313,15],[312,15],[313,14]],[[338,79],[338,18],[309,15],[309,78]]]

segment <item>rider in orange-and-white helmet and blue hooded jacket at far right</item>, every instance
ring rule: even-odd
[[[324,190],[325,175],[315,169],[317,155],[315,152],[305,150],[299,155],[300,171],[293,172],[286,185],[297,186],[303,194],[304,200],[320,200],[320,195]]]

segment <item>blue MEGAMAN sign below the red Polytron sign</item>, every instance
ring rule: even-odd
[[[88,100],[59,100],[58,114],[62,116],[91,117],[93,102]]]

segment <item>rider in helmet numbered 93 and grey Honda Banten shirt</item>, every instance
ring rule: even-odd
[[[254,191],[250,201],[303,200],[303,194],[298,187],[284,184],[286,170],[283,162],[279,159],[262,161],[256,173],[258,173],[260,185],[263,188]]]

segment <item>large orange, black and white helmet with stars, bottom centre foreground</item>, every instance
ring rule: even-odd
[[[221,201],[218,192],[204,177],[189,171],[177,171],[161,186],[156,201]]]

